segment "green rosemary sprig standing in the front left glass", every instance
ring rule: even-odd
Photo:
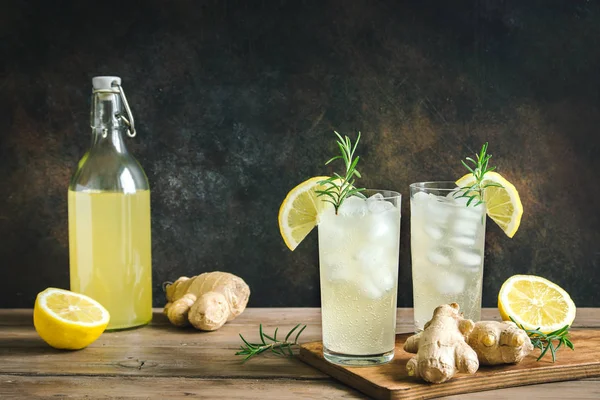
[[[358,146],[358,142],[360,141],[360,132],[358,132],[358,137],[356,138],[356,142],[354,146],[352,146],[352,141],[348,136],[342,136],[333,131],[338,137],[337,145],[340,149],[340,155],[337,155],[329,161],[325,163],[328,165],[332,161],[341,159],[344,160],[344,164],[346,167],[346,173],[344,176],[338,174],[337,172],[333,173],[333,176],[320,181],[319,184],[325,186],[326,188],[323,190],[317,190],[317,196],[325,196],[326,198],[323,201],[333,204],[335,208],[335,213],[338,213],[340,206],[344,202],[347,197],[352,196],[353,194],[357,194],[365,190],[365,188],[355,188],[354,182],[355,178],[360,178],[360,172],[356,169],[356,165],[358,164],[358,160],[360,160],[359,156],[354,157],[354,153],[356,151],[356,146]]]

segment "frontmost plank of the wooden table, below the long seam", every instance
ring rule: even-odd
[[[95,391],[102,388],[102,391]],[[335,380],[256,380],[0,375],[1,399],[368,399]],[[591,400],[600,398],[593,380],[547,383],[443,397],[445,400]]]

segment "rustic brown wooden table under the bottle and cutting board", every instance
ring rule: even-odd
[[[241,363],[238,333],[308,324],[301,341],[319,340],[316,308],[251,308],[216,332],[171,326],[155,310],[150,326],[103,334],[81,351],[59,351],[36,334],[31,310],[0,310],[0,398],[333,399],[365,398],[295,358],[265,354]],[[600,309],[578,309],[575,326],[600,328]],[[485,309],[485,319],[497,319]],[[412,309],[398,309],[398,332],[409,332]],[[562,350],[561,350],[562,351]],[[448,398],[448,397],[447,397]],[[600,379],[524,386],[452,399],[598,399]]]

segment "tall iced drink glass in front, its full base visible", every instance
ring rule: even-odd
[[[400,199],[367,190],[319,221],[323,353],[336,364],[367,366],[394,357]]]

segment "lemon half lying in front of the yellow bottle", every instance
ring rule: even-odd
[[[79,350],[94,342],[110,320],[96,300],[68,290],[40,292],[33,308],[35,330],[50,346]]]

